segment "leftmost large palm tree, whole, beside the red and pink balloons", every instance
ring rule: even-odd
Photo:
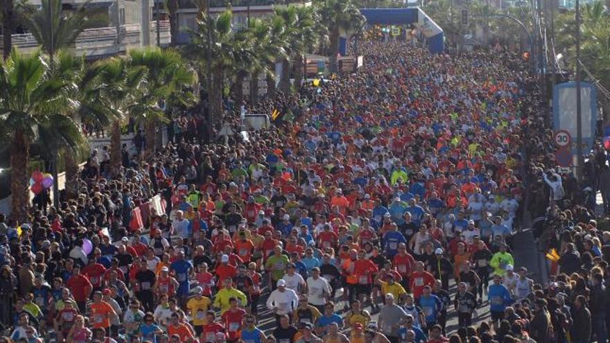
[[[62,109],[73,106],[66,96],[73,84],[62,78],[69,73],[64,65],[60,60],[51,73],[49,60],[40,51],[21,55],[15,49],[0,64],[0,138],[10,150],[12,217],[19,221],[27,216],[31,144],[40,137],[56,146],[78,140],[78,125],[62,114]]]

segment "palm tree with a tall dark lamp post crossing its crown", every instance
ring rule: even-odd
[[[206,65],[208,51],[208,27],[211,29],[211,90],[209,94],[209,124],[215,127],[223,118],[223,89],[225,75],[233,71],[237,50],[236,31],[232,27],[233,14],[227,10],[216,17],[207,17],[202,12],[197,22],[197,30],[191,30],[191,43],[184,52],[198,64]],[[210,77],[210,76],[208,76]]]

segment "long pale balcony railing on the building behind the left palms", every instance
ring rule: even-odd
[[[157,43],[157,23],[150,22],[150,44]],[[159,25],[160,41],[162,45],[171,42],[169,33],[169,22],[160,21]],[[38,43],[31,33],[12,35],[12,44],[19,51],[29,53],[35,51]],[[85,55],[87,58],[102,58],[107,55],[125,53],[129,49],[140,47],[141,28],[139,24],[122,25],[117,34],[116,27],[89,28],[83,30],[76,38],[72,48],[76,55]],[[0,49],[2,39],[0,36]]]

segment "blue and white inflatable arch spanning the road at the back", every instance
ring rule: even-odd
[[[444,51],[444,34],[426,13],[419,8],[362,8],[360,12],[369,25],[409,25],[413,24],[424,37],[431,53]]]

